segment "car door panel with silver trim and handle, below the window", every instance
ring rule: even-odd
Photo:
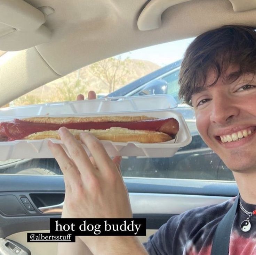
[[[171,216],[194,207],[224,202],[237,194],[234,182],[212,182],[156,178],[124,178],[135,218],[147,219],[147,236],[152,235]],[[216,188],[218,187],[218,188]],[[48,232],[49,219],[59,213],[42,213],[40,206],[63,202],[65,185],[62,176],[1,175],[0,197],[13,196],[23,214],[6,214],[0,204],[0,238],[8,238],[28,248],[32,255],[56,254],[57,243],[27,243],[27,232]],[[34,211],[27,210],[26,197]],[[5,204],[5,207],[8,205]],[[6,212],[6,211],[5,211]]]

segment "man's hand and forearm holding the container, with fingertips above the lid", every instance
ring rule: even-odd
[[[95,98],[95,93],[91,93]],[[83,96],[78,96],[83,100]],[[90,96],[88,95],[90,98]],[[64,174],[65,201],[63,217],[131,218],[129,196],[119,169],[120,158],[110,159],[102,143],[89,133],[80,138],[90,153],[64,127],[59,129],[63,144],[49,141],[49,148]],[[136,237],[80,237],[93,254],[147,254]]]

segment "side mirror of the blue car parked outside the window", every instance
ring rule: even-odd
[[[165,80],[151,80],[141,91],[137,92],[139,96],[167,94],[168,84]]]

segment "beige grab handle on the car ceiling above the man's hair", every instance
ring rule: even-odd
[[[141,31],[148,31],[161,27],[161,16],[168,8],[192,0],[151,0],[139,15],[137,26]],[[229,0],[233,11],[248,11],[256,8],[256,0]]]

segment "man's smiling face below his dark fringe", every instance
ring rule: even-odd
[[[228,168],[256,171],[256,76],[245,74],[234,82],[238,71],[230,66],[215,80],[210,70],[202,91],[192,95],[197,128],[205,143]]]

